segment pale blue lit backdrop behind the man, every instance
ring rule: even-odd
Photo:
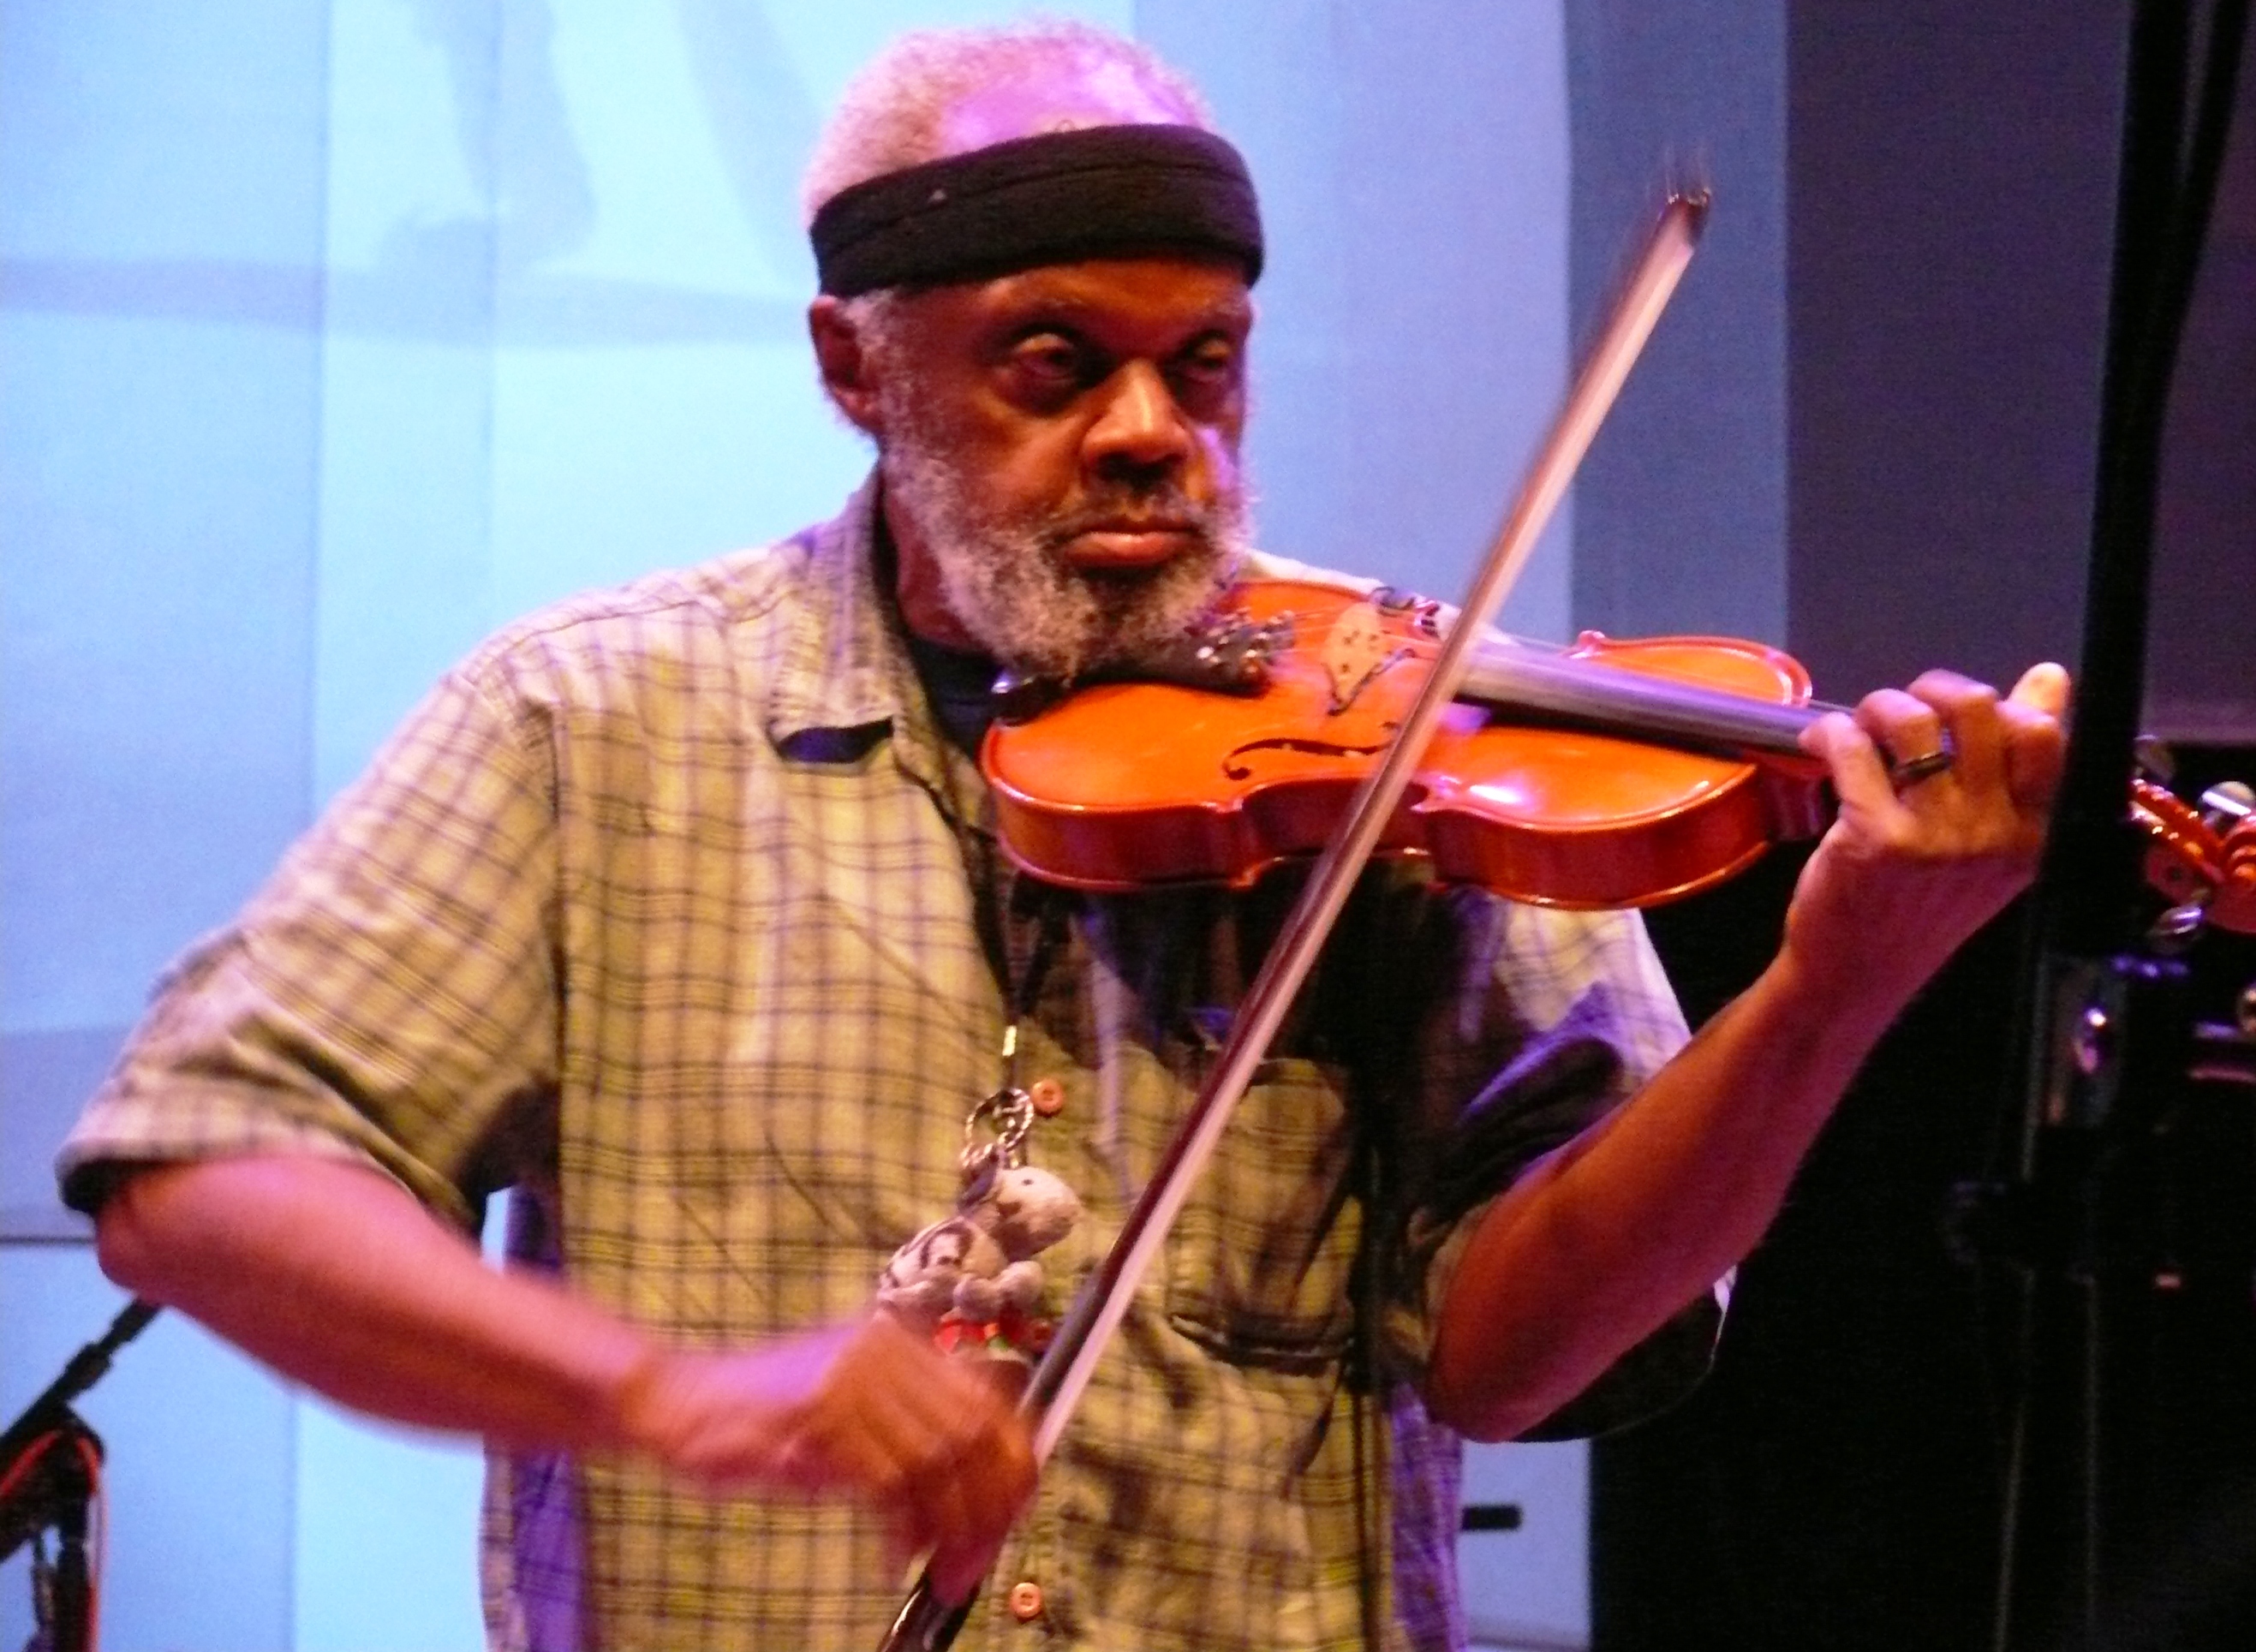
[[[803,348],[796,172],[884,36],[1013,9],[0,0],[0,1411],[117,1307],[45,1162],[165,959],[494,623],[857,478]],[[1067,9],[1198,74],[1263,181],[1266,542],[1453,594],[1579,314],[1561,7]],[[1609,246],[1642,205],[1606,203]],[[1766,208],[1730,226],[1775,284]],[[1685,305],[1775,332],[1719,293]],[[1658,370],[1703,336],[1665,327]],[[1681,627],[1782,612],[1778,431],[1748,418],[1730,463],[1769,481],[1721,492],[1755,535]],[[1572,589],[1561,524],[1507,618],[1563,634]],[[169,1316],[83,1411],[108,1645],[476,1645],[467,1449]],[[1480,1476],[1536,1514],[1471,1539],[1480,1611],[1572,1638],[1579,1451]],[[25,1634],[18,1557],[0,1643]]]

